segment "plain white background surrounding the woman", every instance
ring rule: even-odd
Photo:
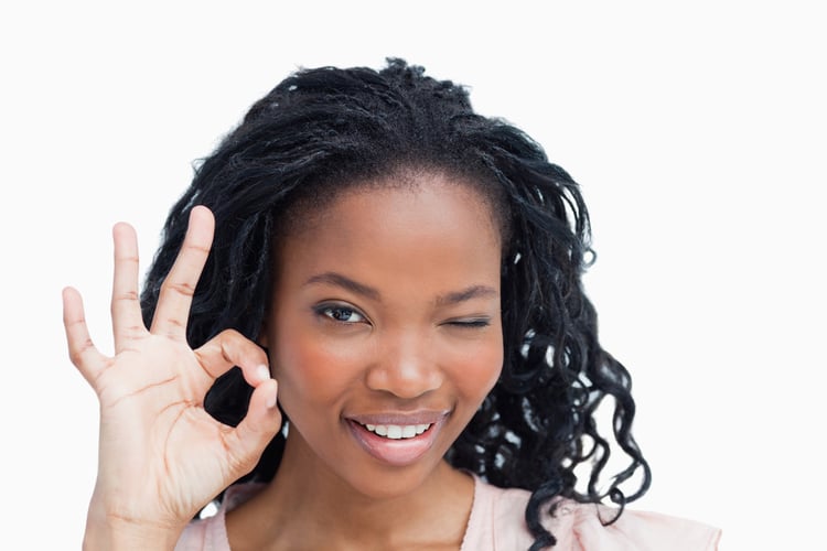
[[[721,526],[722,549],[823,545],[817,3],[3,4],[3,538],[79,547],[97,402],[60,294],[83,292],[109,350],[111,225],[137,227],[148,262],[191,162],[255,99],[299,66],[401,56],[470,85],[582,184],[587,287],[654,471],[634,507]]]

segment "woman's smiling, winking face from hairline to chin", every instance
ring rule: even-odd
[[[346,192],[291,230],[261,338],[288,450],[373,497],[422,484],[503,364],[490,207],[462,182],[414,180]]]

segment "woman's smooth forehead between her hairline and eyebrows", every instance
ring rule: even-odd
[[[367,182],[291,226],[276,255],[282,277],[335,269],[366,281],[451,288],[484,279],[498,288],[498,224],[484,195],[460,181]]]

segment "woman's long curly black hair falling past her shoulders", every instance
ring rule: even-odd
[[[579,186],[523,131],[474,112],[463,86],[426,76],[420,66],[390,58],[380,71],[301,69],[258,100],[196,165],[171,209],[141,294],[144,320],[153,315],[193,206],[213,210],[216,233],[192,304],[190,344],[200,346],[228,327],[256,339],[281,231],[346,186],[406,168],[473,182],[503,233],[503,370],[447,460],[496,486],[531,491],[531,549],[556,542],[540,522],[556,496],[609,498],[620,516],[626,501],[646,491],[651,472],[631,433],[631,378],[600,346],[597,314],[583,291],[593,252]],[[235,425],[250,392],[233,369],[216,380],[205,408]],[[610,397],[611,444],[595,419]],[[272,478],[283,444],[277,435],[245,479]],[[599,489],[615,445],[626,466]],[[589,473],[584,488],[576,487],[578,467]],[[621,490],[624,482],[634,486],[631,495]]]

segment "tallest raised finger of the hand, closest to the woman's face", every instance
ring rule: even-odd
[[[190,306],[213,242],[215,218],[205,206],[190,212],[190,224],[181,250],[161,284],[158,307],[150,332],[175,339],[186,339]]]

